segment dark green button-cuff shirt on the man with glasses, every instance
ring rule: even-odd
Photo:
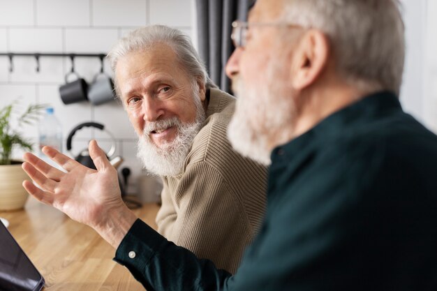
[[[437,290],[437,137],[393,94],[274,149],[267,199],[235,276],[139,220],[114,260],[149,291]]]

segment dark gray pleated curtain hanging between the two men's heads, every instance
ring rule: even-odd
[[[254,0],[195,0],[198,17],[198,47],[209,77],[223,91],[230,92],[225,64],[234,50],[230,40],[232,22],[246,21]]]

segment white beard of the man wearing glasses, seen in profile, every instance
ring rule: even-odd
[[[290,97],[293,93],[286,83],[281,87],[277,80],[283,74],[281,66],[272,65],[267,68],[265,82],[257,86],[247,86],[237,78],[232,80],[238,98],[228,139],[239,154],[262,165],[270,165],[272,149],[289,140],[295,117],[296,107]]]

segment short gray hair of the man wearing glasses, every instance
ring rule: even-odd
[[[405,58],[398,0],[285,0],[286,22],[323,31],[336,70],[360,89],[399,94]]]

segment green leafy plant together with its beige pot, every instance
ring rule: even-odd
[[[12,153],[15,148],[31,151],[32,143],[11,124],[16,121],[17,128],[32,124],[45,108],[45,105],[29,105],[24,113],[17,114],[16,105],[17,102],[0,109],[0,210],[21,209],[28,197],[22,181],[29,177],[22,170],[22,161],[14,161]]]

